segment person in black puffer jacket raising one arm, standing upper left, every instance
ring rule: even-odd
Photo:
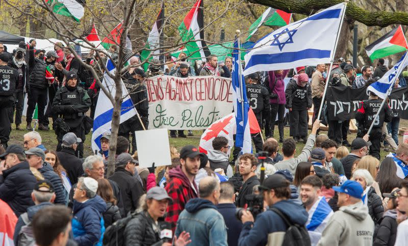
[[[38,106],[38,129],[48,130],[48,127],[44,126],[45,117],[44,110],[47,104],[47,87],[48,82],[45,78],[45,70],[47,64],[44,61],[44,50],[37,49],[34,56],[35,40],[29,45],[29,87],[28,94],[28,107],[27,107],[27,127],[26,130],[33,130],[31,121],[35,106]]]

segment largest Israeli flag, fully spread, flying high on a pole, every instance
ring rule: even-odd
[[[244,75],[330,63],[345,6],[332,6],[260,39],[245,55]]]

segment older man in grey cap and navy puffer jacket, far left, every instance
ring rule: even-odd
[[[56,199],[56,204],[63,204],[65,205],[67,202],[65,196],[65,188],[62,184],[62,180],[60,176],[56,172],[49,163],[45,161],[45,153],[42,149],[33,147],[27,151],[25,151],[25,155],[27,155],[27,159],[31,168],[37,169],[42,176],[53,184]]]

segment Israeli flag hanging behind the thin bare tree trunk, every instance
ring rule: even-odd
[[[116,68],[111,60],[106,63],[106,68],[112,74],[115,74]],[[115,81],[105,72],[102,85],[109,91],[111,95],[115,95],[116,86]],[[126,88],[122,83],[122,107],[120,111],[120,123],[129,120],[133,116],[137,115],[136,108],[133,105],[132,99],[127,93]],[[100,150],[100,137],[102,134],[111,130],[113,117],[113,104],[104,91],[100,90],[98,101],[95,108],[95,117],[93,120],[93,132],[92,132],[92,150]]]

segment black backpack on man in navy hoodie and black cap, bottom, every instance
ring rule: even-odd
[[[291,246],[310,246],[310,237],[308,230],[304,227],[304,225],[298,225],[291,223],[285,214],[283,214],[277,208],[270,208],[270,210],[274,211],[279,215],[282,220],[284,220],[285,224],[288,226],[288,229],[285,232],[284,239],[282,241],[282,245],[291,245]]]

